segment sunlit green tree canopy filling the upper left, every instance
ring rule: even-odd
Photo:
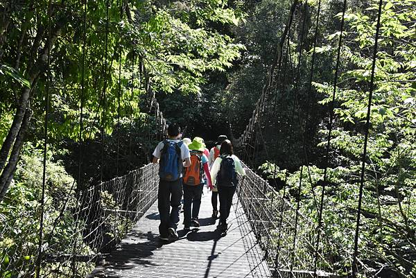
[[[51,53],[49,134],[56,141],[78,139],[82,94],[83,139],[93,139],[101,133],[101,123],[105,125],[106,134],[112,133],[113,119],[116,119],[119,109],[118,96],[121,96],[121,116],[130,117],[132,114],[136,119],[141,109],[148,110],[148,82],[157,93],[197,94],[205,82],[202,73],[225,71],[233,60],[239,58],[243,45],[235,44],[231,37],[211,28],[212,24],[226,26],[241,22],[243,12],[234,11],[227,1],[192,1],[166,6],[158,6],[158,3],[128,3],[120,15],[120,2],[110,1],[108,33],[105,1],[88,2],[85,31],[83,6],[79,1],[51,1],[51,17],[47,15],[47,1],[37,3],[37,17],[34,17],[30,1],[23,1],[20,8],[10,10],[10,26],[17,28],[3,33],[8,40],[3,46],[5,54],[1,56],[1,73],[13,78],[0,76],[6,85],[6,98],[2,96],[1,102],[12,103],[12,107],[5,107],[6,112],[12,112],[12,108],[18,105],[15,99],[19,94],[13,91],[21,85],[28,85],[26,75],[33,63],[31,44],[36,43],[28,34],[36,33],[40,28],[44,32],[46,24],[51,24],[52,31],[64,24]],[[46,40],[46,32],[37,33],[43,36],[40,40]],[[84,36],[85,70],[82,73]],[[72,39],[67,40],[69,37]],[[6,64],[17,66],[12,68]],[[84,91],[81,87],[83,78]],[[10,80],[18,82],[15,84]],[[42,134],[46,93],[44,72],[35,85],[39,89],[33,92],[33,123],[35,130],[39,130],[38,134]]]

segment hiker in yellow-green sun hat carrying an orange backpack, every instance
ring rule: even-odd
[[[205,144],[202,138],[195,137],[189,144],[191,166],[184,169],[184,230],[189,231],[191,225],[199,227],[198,214],[204,189],[204,173],[207,175],[208,186],[212,188],[209,175],[208,157],[204,154]]]

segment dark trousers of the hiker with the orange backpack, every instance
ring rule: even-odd
[[[203,188],[204,188],[204,184],[199,184],[199,185],[184,184],[184,225],[185,227],[189,227],[191,225],[191,218],[198,219]]]

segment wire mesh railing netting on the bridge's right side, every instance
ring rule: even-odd
[[[240,177],[237,189],[239,202],[274,276],[314,277],[318,223],[245,168],[247,175]],[[322,233],[316,263],[317,277],[343,277],[340,273],[349,272],[352,256],[341,243]]]

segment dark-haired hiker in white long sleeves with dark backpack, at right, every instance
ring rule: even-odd
[[[226,232],[229,209],[232,205],[232,197],[239,183],[237,173],[245,175],[240,159],[234,155],[231,141],[223,141],[220,147],[220,156],[215,159],[211,167],[212,183],[216,182],[218,196],[220,198],[220,224],[221,232]]]

